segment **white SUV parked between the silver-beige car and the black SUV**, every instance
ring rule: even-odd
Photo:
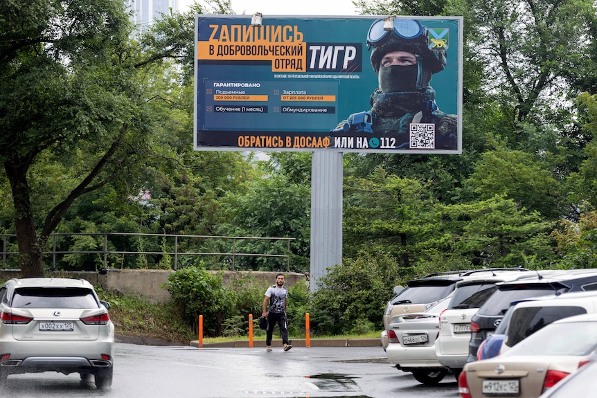
[[[497,282],[533,278],[535,271],[491,271],[474,280],[456,284],[448,307],[440,315],[440,332],[436,340],[438,362],[454,372],[456,378],[464,367],[470,341],[470,319],[496,291]]]

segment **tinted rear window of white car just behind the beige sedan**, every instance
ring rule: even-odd
[[[555,305],[518,308],[510,318],[506,345],[512,347],[555,320],[580,314],[587,314],[587,310],[583,307]]]

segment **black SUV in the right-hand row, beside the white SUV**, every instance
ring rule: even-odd
[[[540,296],[555,297],[569,291],[591,290],[597,290],[597,269],[542,270],[537,271],[537,277],[533,279],[499,282],[497,290],[471,318],[467,362],[476,361],[479,345],[495,331],[510,303]]]

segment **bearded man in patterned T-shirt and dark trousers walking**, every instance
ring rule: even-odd
[[[261,315],[267,317],[267,333],[265,335],[267,351],[271,351],[271,338],[274,336],[274,327],[276,327],[276,323],[278,323],[278,328],[280,329],[284,351],[288,351],[292,348],[292,345],[288,341],[288,325],[286,320],[287,296],[288,289],[284,286],[284,274],[278,273],[276,275],[276,284],[267,288],[267,291],[265,291],[265,298],[263,298]],[[268,302],[269,312],[266,311]]]

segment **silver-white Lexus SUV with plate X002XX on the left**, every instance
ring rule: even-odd
[[[12,279],[0,287],[0,386],[10,374],[77,372],[112,385],[109,304],[86,280]]]

